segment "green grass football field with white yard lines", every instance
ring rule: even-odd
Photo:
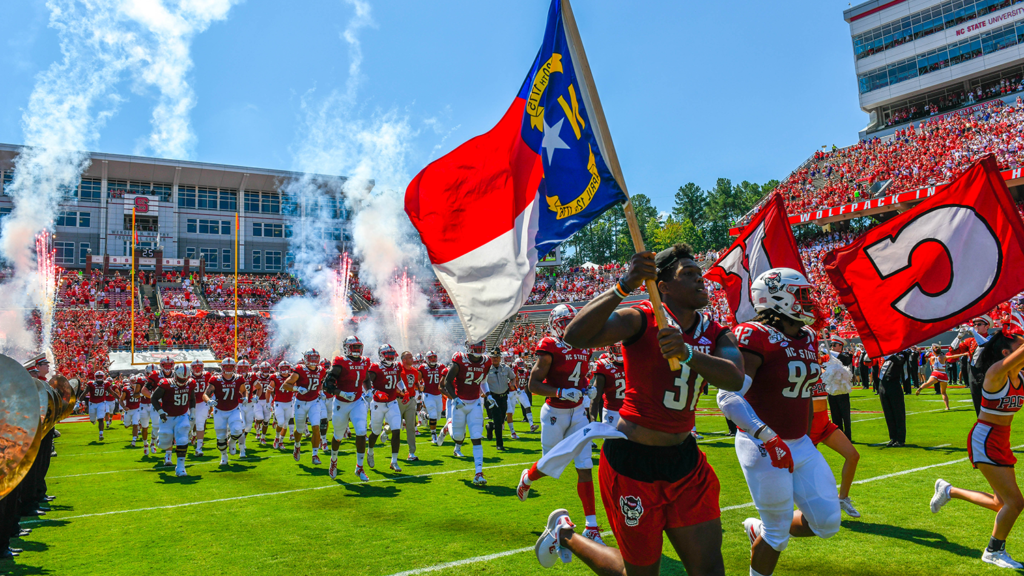
[[[888,440],[880,404],[869,392],[854,393],[862,484],[851,496],[862,517],[844,517],[843,529],[827,541],[792,540],[776,574],[997,573],[979,560],[992,512],[956,500],[938,515],[928,508],[938,477],[988,490],[966,461],[965,440],[975,420],[970,395],[950,393],[948,413],[930,393],[907,398],[906,448],[874,446]],[[722,483],[726,570],[746,574],[749,542],[740,522],[755,510],[725,420],[711,411],[714,399],[701,399],[700,407],[708,410],[697,418],[706,435],[701,448]],[[120,423],[102,443],[88,423],[59,429],[59,456],[49,472],[50,494],[58,498],[44,522],[24,524],[34,531],[14,545],[26,551],[16,563],[0,562],[0,573],[538,574],[544,570],[532,545],[548,512],[564,506],[583,524],[571,471],[535,485],[525,503],[515,497],[519,471],[540,457],[540,434],[509,442],[503,454],[485,441],[489,485],[478,488],[470,483],[471,457],[454,458],[451,440],[435,448],[423,436],[419,462],[402,461],[403,472],[390,474],[388,450],[378,449],[377,469],[367,469],[370,482],[364,484],[353,482],[352,441],[342,445],[342,474],[332,481],[329,458],[312,466],[308,450],[296,464],[290,452],[250,447],[247,461],[232,459],[222,468],[208,428],[206,456],[189,452],[189,476],[178,479],[162,456],[143,459],[141,448],[129,448],[130,431]],[[1014,446],[1024,444],[1019,431],[1014,435]],[[838,478],[842,460],[822,450]],[[406,453],[403,446],[402,458]],[[603,509],[598,519],[607,530]],[[1024,559],[1022,531],[1007,543],[1017,559]],[[607,541],[613,543],[610,535]],[[667,542],[664,553],[662,573],[683,574]],[[444,566],[460,561],[467,562]],[[573,560],[549,573],[589,571]]]

